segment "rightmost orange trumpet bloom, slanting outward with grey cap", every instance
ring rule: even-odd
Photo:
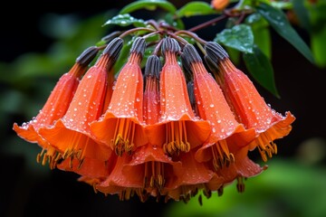
[[[263,160],[267,161],[267,156],[272,157],[277,153],[273,140],[287,136],[295,118],[291,112],[286,112],[283,117],[267,105],[254,88],[253,82],[244,72],[235,68],[219,44],[207,42],[205,49],[208,58],[218,65],[216,80],[224,90],[225,98],[234,109],[239,122],[247,128],[254,127],[256,131],[257,137],[249,148],[254,149],[257,146]]]

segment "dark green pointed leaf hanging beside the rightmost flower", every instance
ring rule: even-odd
[[[273,66],[264,53],[254,46],[254,53],[244,53],[245,66],[260,85],[269,90],[277,98],[280,98],[276,90]]]

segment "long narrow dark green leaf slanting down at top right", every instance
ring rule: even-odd
[[[257,11],[264,16],[277,33],[286,41],[290,42],[305,58],[312,63],[314,62],[311,50],[307,44],[303,42],[300,35],[292,28],[292,25],[282,11],[264,3],[257,6]]]

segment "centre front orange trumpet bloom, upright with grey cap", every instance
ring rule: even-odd
[[[165,153],[174,155],[202,145],[210,134],[210,126],[207,121],[196,118],[190,106],[185,76],[177,64],[177,52],[180,52],[177,41],[164,39],[162,52],[165,64],[159,86],[161,118],[158,125],[148,129],[156,132],[156,138],[151,143],[164,141]]]

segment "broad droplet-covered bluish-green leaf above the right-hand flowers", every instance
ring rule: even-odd
[[[217,33],[214,41],[240,52],[253,52],[254,34],[249,25],[239,24]]]

